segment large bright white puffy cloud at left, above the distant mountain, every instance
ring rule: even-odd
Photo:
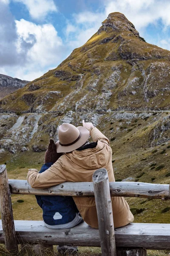
[[[31,44],[26,52],[26,65],[16,70],[16,76],[20,79],[33,80],[47,72],[48,67],[57,67],[64,56],[65,48],[54,26],[36,25],[24,19],[15,22],[18,52],[23,51],[23,42]]]

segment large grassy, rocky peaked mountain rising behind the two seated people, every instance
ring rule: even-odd
[[[110,139],[116,180],[170,183],[170,51],[145,42],[118,12],[56,69],[1,99],[0,112],[0,163],[10,178],[40,169],[60,124],[85,119]],[[167,201],[128,202],[138,222],[170,222]]]

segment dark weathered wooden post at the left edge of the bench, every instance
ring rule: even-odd
[[[10,253],[18,252],[17,237],[15,235],[14,218],[11,205],[11,192],[8,186],[6,165],[0,165],[0,203],[1,218],[6,249]]]

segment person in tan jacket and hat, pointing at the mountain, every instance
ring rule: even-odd
[[[88,143],[91,135],[93,143]],[[112,167],[112,149],[109,140],[92,123],[83,126],[63,123],[59,126],[57,153],[63,154],[49,169],[38,173],[28,171],[27,180],[32,188],[45,189],[69,182],[92,182],[93,173],[99,168],[108,171],[109,182],[115,181]],[[73,197],[83,220],[91,227],[98,228],[95,198]],[[123,197],[112,197],[114,227],[133,222],[134,217]]]

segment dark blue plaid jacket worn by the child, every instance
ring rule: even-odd
[[[45,172],[53,163],[43,164],[41,172]],[[79,212],[70,196],[36,195],[37,203],[42,208],[43,220],[48,225],[66,224]]]

